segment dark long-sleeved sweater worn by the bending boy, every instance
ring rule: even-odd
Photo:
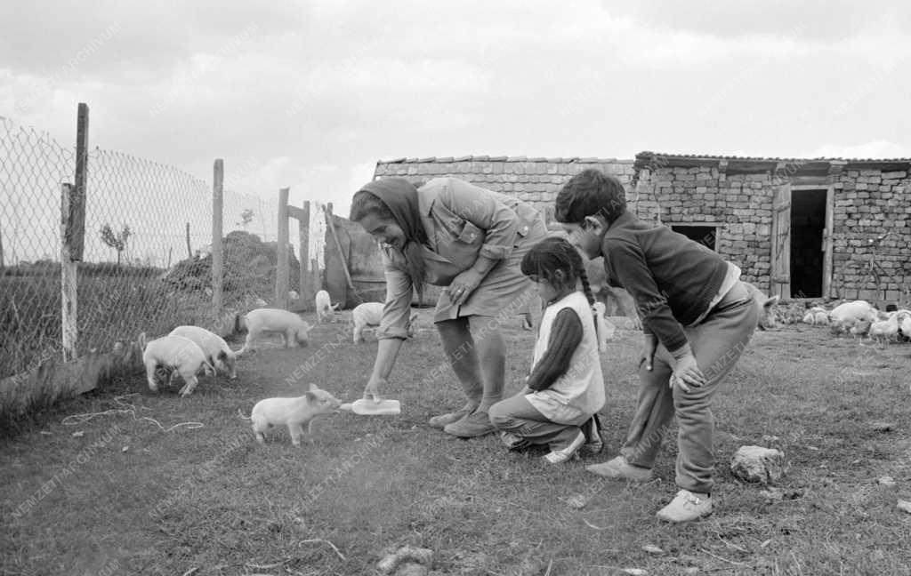
[[[601,254],[608,281],[630,292],[645,333],[671,353],[686,346],[682,326],[706,311],[728,270],[721,256],[699,242],[630,212],[605,232]]]

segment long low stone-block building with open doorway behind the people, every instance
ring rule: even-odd
[[[550,224],[562,184],[594,167],[619,177],[639,217],[701,241],[772,294],[908,305],[909,165],[642,152],[634,160],[398,158],[378,162],[374,177],[459,177],[529,202]]]

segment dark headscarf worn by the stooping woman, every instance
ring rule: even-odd
[[[417,188],[404,178],[382,178],[365,184],[361,189],[380,198],[389,208],[395,223],[402,228],[405,267],[418,296],[423,298],[426,270],[421,245],[427,240],[427,232],[418,209]]]

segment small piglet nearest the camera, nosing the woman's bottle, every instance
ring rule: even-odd
[[[303,425],[307,425],[307,441],[312,443],[312,422],[317,416],[339,411],[342,402],[326,390],[311,384],[310,389],[298,398],[267,398],[253,406],[250,417],[241,413],[241,418],[251,419],[256,441],[266,441],[263,432],[273,426],[287,426],[294,446],[301,445],[304,436]],[[238,410],[240,412],[240,410]]]

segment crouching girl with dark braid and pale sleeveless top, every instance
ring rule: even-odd
[[[490,422],[510,450],[546,445],[551,464],[603,444],[596,414],[604,406],[595,302],[582,258],[561,237],[537,243],[521,270],[537,285],[544,314],[526,386],[494,404]]]

